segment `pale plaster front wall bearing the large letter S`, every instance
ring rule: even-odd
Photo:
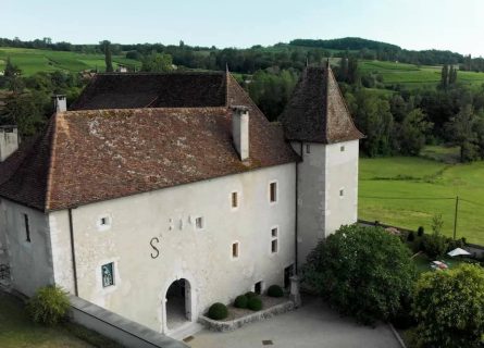
[[[277,182],[277,202],[269,184]],[[79,297],[137,321],[162,327],[162,300],[173,281],[193,289],[193,320],[215,301],[228,302],[252,289],[282,284],[295,257],[295,164],[182,185],[79,207],[72,211]],[[232,192],[239,207],[233,209]],[[99,221],[108,216],[110,228]],[[203,217],[197,229],[196,217]],[[72,288],[66,211],[50,214],[55,281]],[[278,252],[271,228],[278,226]],[[158,238],[159,243],[152,238]],[[150,241],[159,249],[150,246]],[[239,243],[233,259],[232,244]],[[115,285],[103,288],[101,265],[115,262]]]

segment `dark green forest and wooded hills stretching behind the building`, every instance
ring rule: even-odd
[[[228,66],[270,121],[277,121],[305,66],[331,59],[351,115],[367,136],[360,145],[363,154],[418,156],[427,144],[450,144],[460,147],[463,162],[484,159],[484,85],[461,84],[457,73],[484,72],[482,58],[450,51],[409,51],[361,38],[298,39],[249,49],[190,47],[183,41],[177,46],[107,40],[71,45],[53,44],[49,38],[0,39],[1,46],[102,53],[107,71],[113,71],[113,54],[140,61],[146,72],[224,71]],[[440,65],[440,83],[426,88],[385,86],[378,72],[360,69],[361,60]],[[62,71],[24,77],[15,62],[8,60],[0,76],[0,89],[9,90],[0,124],[15,123],[23,136],[35,135],[52,114],[52,92],[66,94],[73,100],[87,82],[82,74]]]

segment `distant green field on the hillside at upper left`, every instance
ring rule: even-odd
[[[57,70],[80,72],[98,69],[104,71],[104,55],[85,54],[78,52],[63,52],[22,48],[0,48],[0,71],[3,70],[7,58],[17,65],[23,75],[33,75],[38,72],[52,72]],[[125,64],[139,67],[140,62],[126,59],[124,55],[113,55],[114,67]]]

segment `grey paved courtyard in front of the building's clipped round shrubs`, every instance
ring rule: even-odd
[[[272,345],[262,340],[272,340]],[[400,348],[386,324],[375,328],[340,318],[317,298],[303,299],[294,312],[248,324],[231,333],[203,330],[188,343],[193,348]]]

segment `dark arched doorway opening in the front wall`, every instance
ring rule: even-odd
[[[166,328],[176,330],[191,321],[191,286],[185,279],[173,282],[166,290]]]

